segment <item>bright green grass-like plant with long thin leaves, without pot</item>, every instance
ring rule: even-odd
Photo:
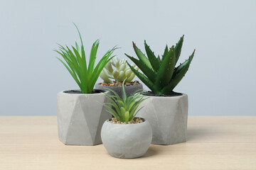
[[[78,30],[78,27],[75,27]],[[75,79],[75,82],[80,87],[82,94],[92,94],[93,87],[100,76],[100,72],[102,72],[102,69],[105,67],[107,62],[112,59],[111,55],[117,48],[113,47],[111,50],[108,50],[95,67],[97,49],[100,45],[100,41],[96,40],[92,45],[90,60],[87,64],[85,49],[82,44],[82,38],[79,30],[78,33],[80,36],[81,47],[79,47],[78,43],[75,42],[75,47],[72,46],[71,49],[68,46],[63,47],[62,45],[59,45],[59,50],[54,51],[58,52],[58,54],[63,57],[63,60],[58,57],[57,58],[63,63],[66,69],[68,69],[68,72],[70,72],[73,79]]]

